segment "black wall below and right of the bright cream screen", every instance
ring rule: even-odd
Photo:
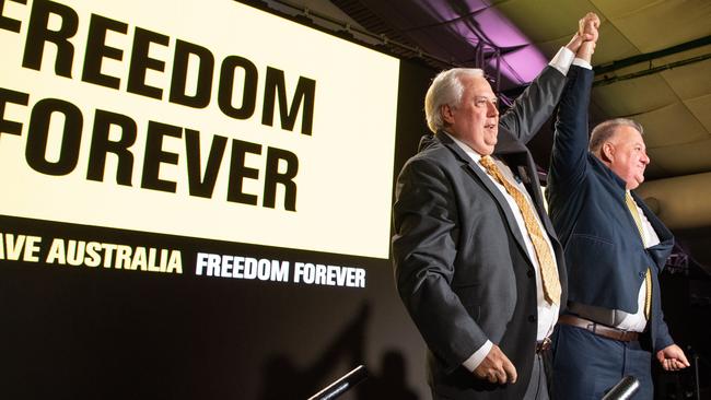
[[[426,132],[432,74],[401,63],[396,172]],[[183,274],[0,261],[1,399],[305,399],[360,364],[370,378],[345,399],[426,397],[389,260],[7,215],[0,233],[43,237],[40,260],[54,237],[183,255]],[[198,251],[363,268],[366,286],[197,277]]]

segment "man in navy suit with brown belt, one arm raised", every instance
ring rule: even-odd
[[[594,46],[591,40],[579,52],[592,54]],[[605,121],[588,143],[593,72],[572,67],[569,74],[566,90],[583,95],[561,101],[546,192],[568,269],[568,310],[553,343],[553,397],[598,400],[631,375],[640,380],[634,398],[652,399],[652,352],[664,369],[689,365],[661,308],[657,275],[674,237],[630,191],[650,163],[642,127],[623,118]]]

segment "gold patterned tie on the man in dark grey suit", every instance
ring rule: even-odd
[[[488,155],[481,157],[481,165],[487,169],[487,173],[491,175],[499,184],[501,184],[509,195],[514,199],[521,214],[523,215],[524,224],[526,225],[526,231],[528,232],[528,237],[534,245],[536,250],[536,258],[538,259],[538,267],[540,270],[540,280],[544,286],[544,297],[548,303],[559,304],[560,303],[560,281],[558,280],[558,271],[556,270],[556,261],[553,255],[550,251],[550,247],[545,239],[545,234],[536,220],[536,213],[531,205],[531,202],[526,199],[523,192],[515,186],[513,186],[502,174],[497,164]]]

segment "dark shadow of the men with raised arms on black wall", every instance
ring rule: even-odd
[[[346,362],[353,368],[364,364],[365,327],[370,317],[370,305],[363,304],[351,321],[328,344],[323,354],[310,366],[300,367],[283,354],[271,356],[263,367],[263,384],[259,400],[308,399],[330,385],[334,368]],[[408,388],[405,357],[396,351],[382,356],[381,374],[373,375],[354,389],[359,400],[392,399],[418,400]],[[336,380],[338,378],[334,378]]]

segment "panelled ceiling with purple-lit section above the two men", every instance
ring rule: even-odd
[[[578,20],[601,17],[591,123],[642,123],[652,160],[640,195],[711,273],[711,1],[270,0],[357,39],[435,69],[480,67],[515,96],[564,45]],[[498,68],[497,68],[498,67]],[[545,169],[550,132],[533,144]]]

